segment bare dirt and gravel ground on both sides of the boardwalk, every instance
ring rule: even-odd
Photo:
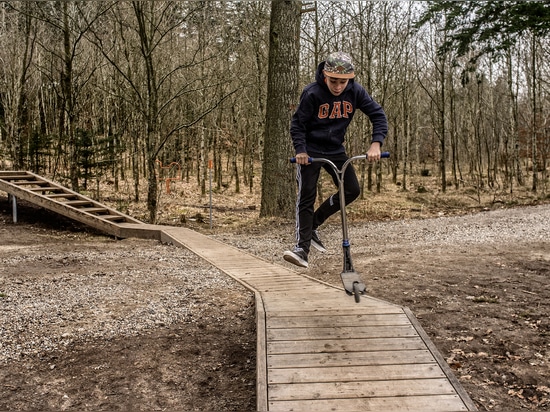
[[[95,316],[27,320],[18,342],[8,342],[13,331],[0,324],[0,349],[10,349],[0,358],[0,410],[255,409],[250,292],[184,250],[115,241],[25,205],[14,225],[9,212],[0,197],[0,316],[7,324],[10,308],[29,303],[25,296],[48,295],[37,284],[67,294],[82,282],[100,282],[106,291],[123,285],[126,294],[116,304],[88,302],[82,311]],[[214,235],[285,265],[293,222],[264,223]],[[548,227],[546,205],[354,223],[350,232],[369,294],[413,311],[480,410],[549,410]],[[323,228],[328,251],[312,252],[309,276],[339,284],[339,230],[336,220]],[[173,265],[181,275],[170,277]],[[199,268],[209,277],[203,286],[189,275]],[[179,289],[167,291],[167,284]],[[167,313],[151,317],[143,300],[161,302],[153,307]]]

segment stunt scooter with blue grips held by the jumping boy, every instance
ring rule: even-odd
[[[390,157],[389,152],[382,152],[380,154],[381,158],[388,158]],[[350,157],[343,165],[342,169],[338,169],[338,167],[330,160],[324,159],[321,157],[313,158],[310,157],[308,159],[309,163],[313,162],[322,162],[327,163],[332,167],[334,172],[336,173],[336,178],[338,181],[338,192],[340,197],[340,216],[342,218],[342,250],[344,254],[344,269],[342,273],[340,274],[340,277],[342,278],[342,283],[344,285],[344,289],[346,290],[346,293],[350,296],[355,297],[355,302],[359,303],[361,300],[361,295],[364,295],[366,293],[367,287],[361,280],[359,274],[355,272],[355,269],[353,268],[353,263],[351,261],[351,250],[350,250],[350,243],[348,239],[348,223],[346,218],[346,198],[344,195],[344,174],[346,173],[346,169],[349,166],[351,162],[354,160],[359,159],[366,159],[366,155],[359,155],[359,156],[353,156]],[[290,159],[291,163],[296,163],[296,158]]]

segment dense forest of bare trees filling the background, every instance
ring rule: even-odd
[[[31,170],[155,222],[177,181],[256,191],[293,213],[288,125],[335,50],[385,109],[391,159],[358,165],[363,196],[408,191],[548,198],[549,2],[3,1],[0,168]],[[363,154],[358,115],[348,153]],[[260,177],[261,176],[261,177]],[[269,177],[270,180],[267,180]],[[261,180],[261,183],[260,182]],[[413,188],[421,192],[424,185]],[[184,194],[184,196],[186,196]],[[322,191],[320,196],[323,196]],[[285,199],[281,201],[281,199]]]

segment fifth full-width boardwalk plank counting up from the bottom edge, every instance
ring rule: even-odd
[[[269,355],[282,353],[335,353],[382,350],[426,349],[422,339],[414,338],[372,338],[372,339],[326,339],[312,341],[278,341],[267,343]]]

